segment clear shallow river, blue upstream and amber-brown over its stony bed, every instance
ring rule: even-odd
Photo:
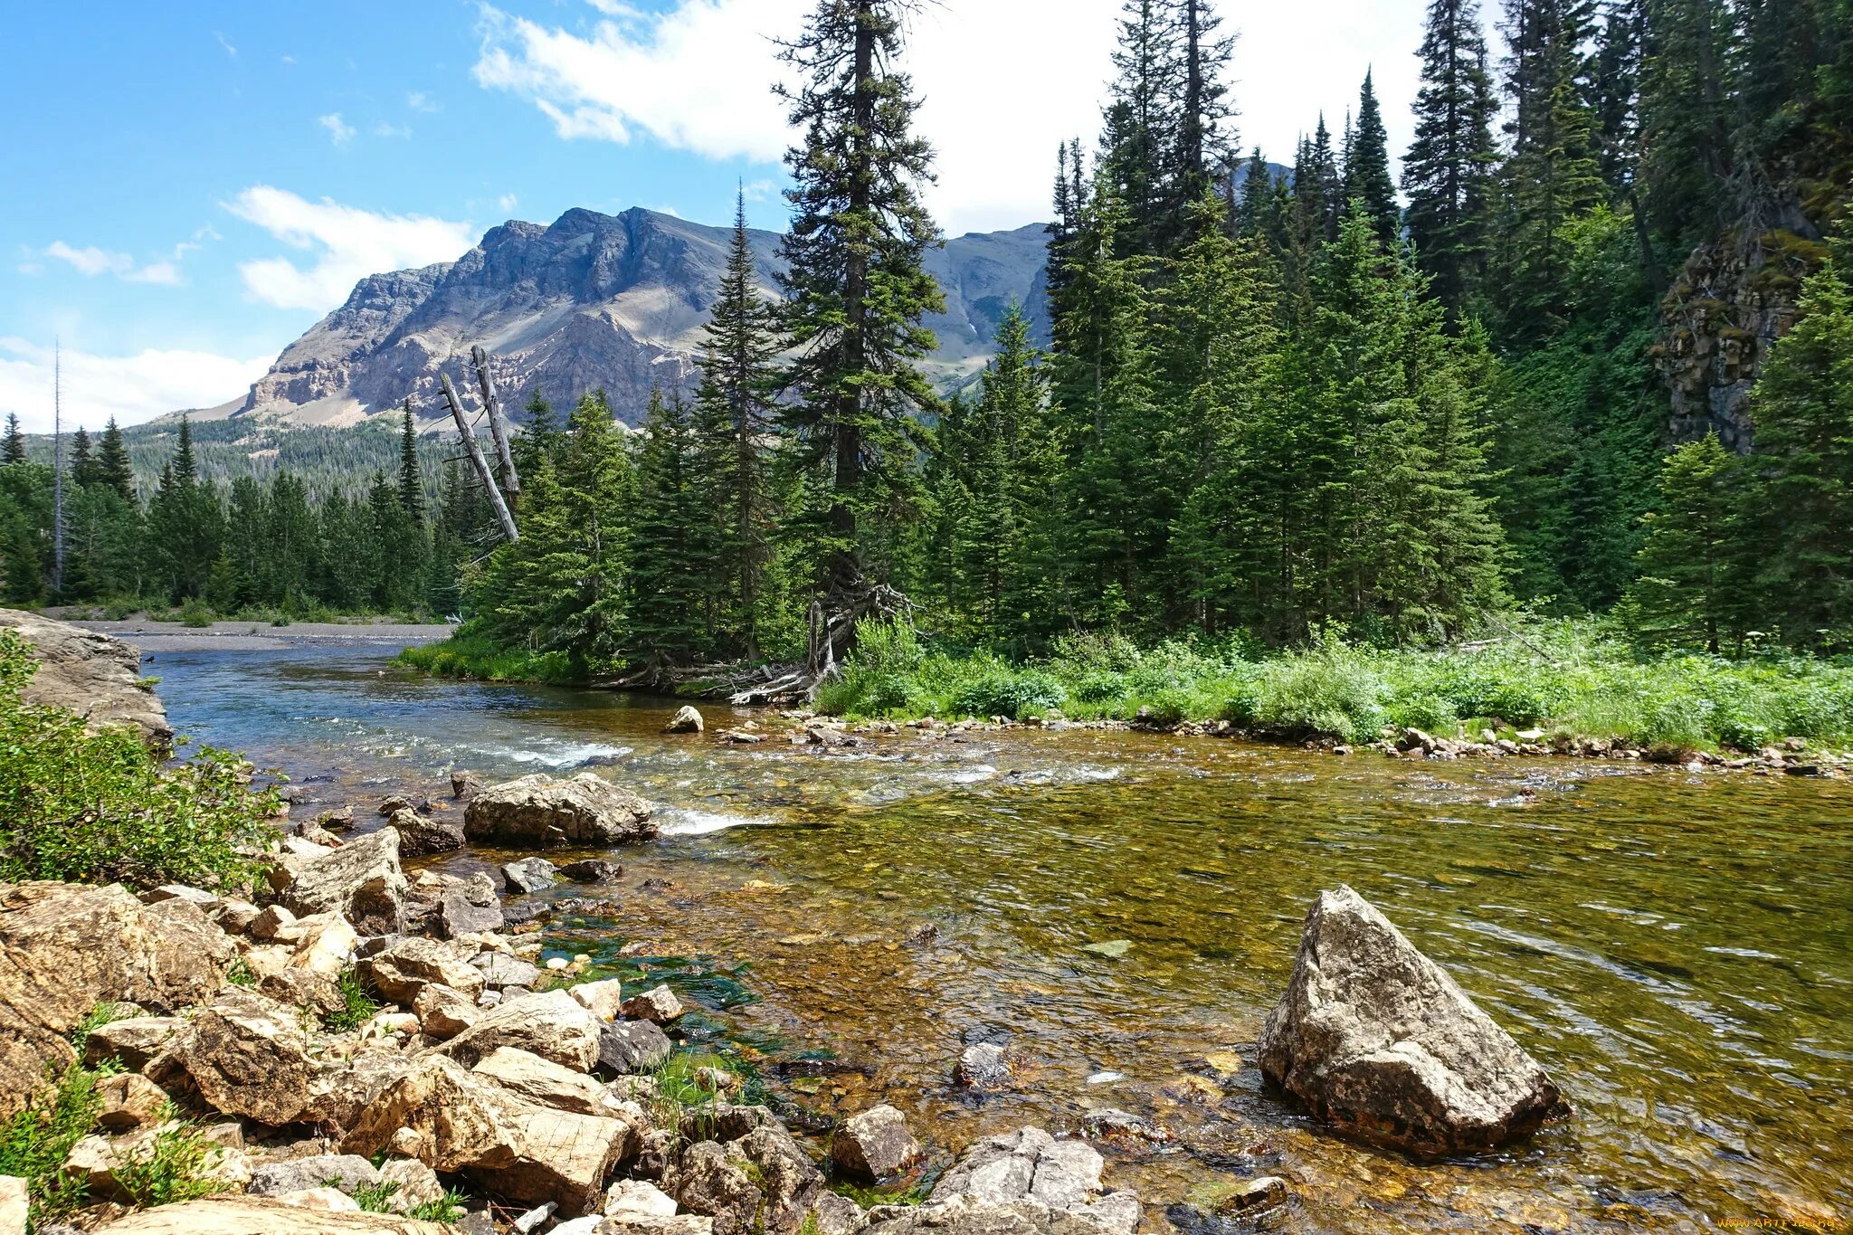
[[[550,954],[671,981],[800,1124],[888,1100],[943,1166],[988,1131],[1130,1111],[1169,1139],[1097,1142],[1154,1231],[1245,1174],[1286,1178],[1303,1231],[1853,1229],[1849,781],[1116,731],[725,746],[660,733],[667,700],[428,681],[395,644],[141,642],[176,728],[287,772],[298,813],[371,826],[387,792],[447,798],[452,768],[586,761],[658,802],[662,841],[591,892],[619,913],[556,918]],[[1264,1089],[1256,1033],[1340,881],[1571,1118],[1414,1163]],[[1017,1078],[978,1100],[952,1065],[986,1041]]]

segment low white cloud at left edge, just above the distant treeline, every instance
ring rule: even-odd
[[[156,348],[95,356],[65,348],[65,428],[100,430],[109,417],[137,424],[182,407],[213,407],[250,389],[271,359]],[[32,433],[52,430],[52,348],[0,337],[0,411],[17,411]]]

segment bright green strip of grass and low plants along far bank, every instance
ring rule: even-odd
[[[1853,742],[1853,661],[1768,652],[1742,661],[1642,655],[1594,622],[1538,622],[1469,650],[1373,648],[1329,635],[1266,654],[1251,641],[1140,648],[1071,637],[1028,665],[863,626],[817,707],[851,718],[939,717],[1151,724],[1229,720],[1288,739],[1375,741],[1386,726],[1544,730],[1644,748],[1753,752],[1801,737]]]

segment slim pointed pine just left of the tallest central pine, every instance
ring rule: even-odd
[[[702,381],[695,396],[697,487],[717,515],[712,642],[749,659],[760,655],[760,626],[775,600],[767,589],[778,507],[769,470],[782,374],[778,311],[760,294],[747,237],[747,200],[734,207],[734,243],[702,341]]]

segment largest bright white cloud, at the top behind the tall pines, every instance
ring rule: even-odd
[[[773,39],[799,31],[813,0],[674,0],[645,13],[587,0],[604,17],[547,26],[485,7],[476,80],[524,96],[563,139],[637,133],[712,159],[778,159],[791,141],[771,83]],[[938,150],[928,200],[947,231],[1014,228],[1049,215],[1056,144],[1091,150],[1112,76],[1121,0],[945,0],[910,19],[906,67]],[[1292,163],[1325,111],[1334,131],[1375,65],[1390,152],[1410,137],[1425,0],[1238,6],[1230,70],[1242,148]],[[1306,46],[1317,48],[1314,56]]]

